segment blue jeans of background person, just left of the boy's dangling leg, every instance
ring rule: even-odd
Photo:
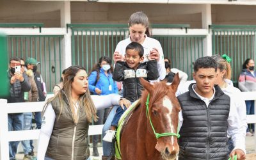
[[[104,137],[106,135],[106,131],[109,130],[111,122],[116,114],[116,109],[118,107],[119,106],[113,106],[113,108],[109,112],[108,118],[102,129],[102,137]],[[114,154],[114,153],[111,153],[111,150],[112,152],[114,152],[115,150],[114,145],[112,143],[109,143],[107,141],[102,141],[102,148],[103,148],[103,156],[110,156],[111,154]]]

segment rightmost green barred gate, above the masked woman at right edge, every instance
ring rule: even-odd
[[[227,54],[232,58],[232,81],[237,79],[247,58],[255,60],[255,33],[253,25],[211,25],[212,54]]]

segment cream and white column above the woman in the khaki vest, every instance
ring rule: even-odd
[[[70,1],[65,1],[61,5],[60,9],[61,28],[67,28],[67,24],[71,23],[70,13]],[[72,65],[72,54],[71,54],[71,29],[68,29],[68,33],[64,35],[64,39],[61,42],[63,46],[63,68],[70,67]]]

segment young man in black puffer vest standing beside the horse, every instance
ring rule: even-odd
[[[228,159],[227,131],[232,133],[232,138],[239,134],[236,132],[239,125],[237,130],[234,126],[234,117],[238,115],[230,111],[230,97],[219,86],[214,86],[216,71],[216,61],[211,57],[198,58],[193,72],[196,83],[190,84],[189,91],[177,97],[182,108],[179,160]],[[230,156],[236,154],[237,159],[245,159],[244,151],[237,146]]]

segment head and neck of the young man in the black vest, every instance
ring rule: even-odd
[[[213,94],[212,88],[216,82],[215,69],[199,68],[197,72],[193,72],[193,78],[196,81],[196,93],[202,97],[211,98]]]

